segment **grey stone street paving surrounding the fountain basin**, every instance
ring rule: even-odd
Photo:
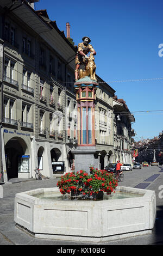
[[[107,245],[163,245],[163,168],[160,166],[143,167],[132,172],[123,172],[124,181],[120,186],[136,187],[143,184],[145,189],[154,190],[156,194],[156,222],[151,235],[135,236],[127,239],[103,243],[72,242],[63,240],[37,239],[15,226],[15,194],[40,187],[56,187],[57,179],[10,179],[3,187],[0,198],[0,245],[55,245],[55,246],[107,246]],[[162,191],[162,192],[161,192]]]

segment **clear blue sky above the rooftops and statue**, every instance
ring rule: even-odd
[[[163,79],[154,78],[163,78],[163,57],[158,54],[163,44],[163,1],[40,0],[35,9],[47,9],[49,19],[65,35],[69,22],[75,45],[83,36],[91,38],[97,75],[134,113],[135,140],[158,136],[163,130]]]

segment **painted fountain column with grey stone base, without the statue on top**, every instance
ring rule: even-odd
[[[98,168],[98,155],[95,147],[95,101],[98,83],[89,77],[74,83],[78,102],[78,146],[73,151],[75,171],[80,169],[89,173],[90,166]]]

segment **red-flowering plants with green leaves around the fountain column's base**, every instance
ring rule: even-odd
[[[82,199],[103,199],[103,192],[111,194],[117,184],[117,180],[112,173],[106,170],[91,168],[91,174],[85,170],[71,172],[62,175],[57,183],[62,194],[81,195]]]

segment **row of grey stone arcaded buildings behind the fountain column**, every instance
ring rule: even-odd
[[[32,178],[36,167],[53,177],[75,164],[76,47],[49,20],[46,10],[34,10],[34,2],[38,1],[0,3],[1,170],[8,179]],[[121,135],[115,136],[113,113],[121,103],[113,99],[115,90],[96,77],[95,143],[98,166],[104,168],[108,162],[130,157],[125,159],[116,150]],[[130,125],[124,127],[129,149]]]

